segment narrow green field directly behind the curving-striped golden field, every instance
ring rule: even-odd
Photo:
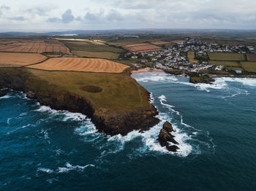
[[[88,58],[105,58],[105,59],[118,59],[119,54],[113,52],[89,52],[89,51],[78,51],[73,50],[72,54],[78,57],[88,57]]]

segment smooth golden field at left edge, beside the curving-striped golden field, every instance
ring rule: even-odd
[[[34,53],[0,52],[0,67],[20,67],[45,61],[47,57]]]

